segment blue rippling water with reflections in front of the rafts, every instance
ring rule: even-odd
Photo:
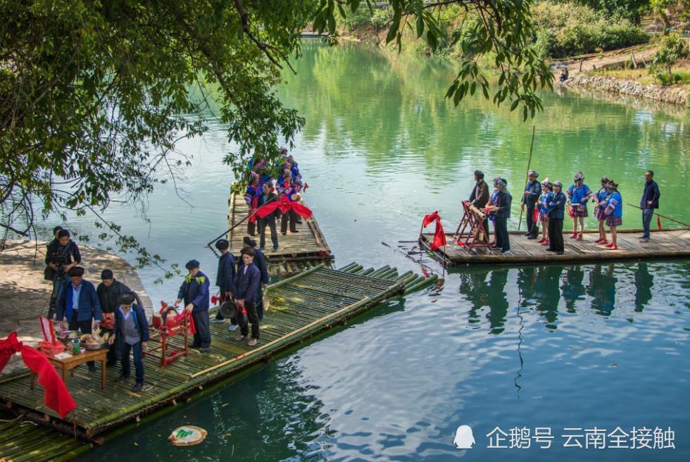
[[[89,460],[446,461],[463,456],[459,425],[477,461],[579,461],[592,455],[563,448],[565,428],[645,425],[670,426],[676,449],[595,459],[688,460],[689,276],[690,261],[453,270],[439,293],[389,301]],[[170,447],[181,423],[206,442]],[[496,426],[555,439],[487,449]]]

